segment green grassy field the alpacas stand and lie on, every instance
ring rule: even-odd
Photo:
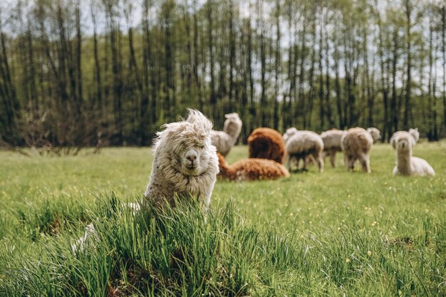
[[[435,177],[393,177],[394,154],[375,145],[371,174],[340,154],[321,174],[219,180],[204,224],[121,203],[142,197],[149,148],[0,152],[0,296],[446,296],[446,142],[415,147]]]

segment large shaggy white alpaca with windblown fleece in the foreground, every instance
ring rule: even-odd
[[[197,110],[187,120],[165,124],[157,132],[150,182],[144,197],[160,206],[175,206],[178,197],[195,196],[204,212],[209,206],[219,172],[217,152],[209,137],[212,123]]]

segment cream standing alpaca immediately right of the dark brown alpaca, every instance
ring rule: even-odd
[[[308,130],[297,130],[291,127],[284,133],[286,149],[286,167],[291,170],[291,160],[299,165],[299,160],[304,161],[303,169],[306,170],[307,157],[313,157],[319,172],[323,172],[323,141],[318,133]]]

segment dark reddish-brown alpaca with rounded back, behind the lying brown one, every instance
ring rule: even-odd
[[[274,129],[257,128],[248,137],[249,157],[276,161],[284,164],[285,142]]]

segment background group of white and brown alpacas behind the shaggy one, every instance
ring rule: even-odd
[[[231,116],[229,116],[231,115]],[[224,131],[212,132],[229,133],[227,127],[233,125],[233,130],[240,131],[242,120],[237,113],[226,115]],[[237,120],[234,120],[237,119]],[[234,123],[237,123],[235,125]],[[231,144],[237,142],[238,133],[233,133]],[[274,129],[268,127],[256,128],[248,137],[249,159],[242,160],[229,166],[224,160],[224,155],[229,152],[229,142],[224,146],[224,150],[219,150],[219,142],[212,139],[216,145],[219,155],[220,177],[237,180],[252,179],[274,179],[288,176],[291,164],[299,168],[302,161],[302,170],[306,170],[308,163],[312,162],[318,167],[319,172],[323,172],[326,157],[330,157],[332,167],[336,167],[336,153],[343,152],[344,165],[348,171],[353,171],[356,163],[361,164],[364,172],[371,172],[370,150],[373,144],[380,140],[380,130],[375,127],[368,127],[367,130],[361,127],[353,127],[348,130],[332,129],[324,131],[321,135],[308,130],[297,130],[290,127],[280,135]],[[418,128],[409,131],[397,131],[390,138],[390,144],[396,150],[397,162],[393,174],[402,175],[435,175],[430,165],[418,157],[412,157],[412,150],[420,140]],[[404,143],[408,142],[408,145]],[[229,148],[228,148],[229,147]],[[259,159],[273,161],[260,162]],[[278,165],[286,163],[286,173]],[[262,167],[263,166],[263,167]],[[247,173],[249,172],[249,177]]]

